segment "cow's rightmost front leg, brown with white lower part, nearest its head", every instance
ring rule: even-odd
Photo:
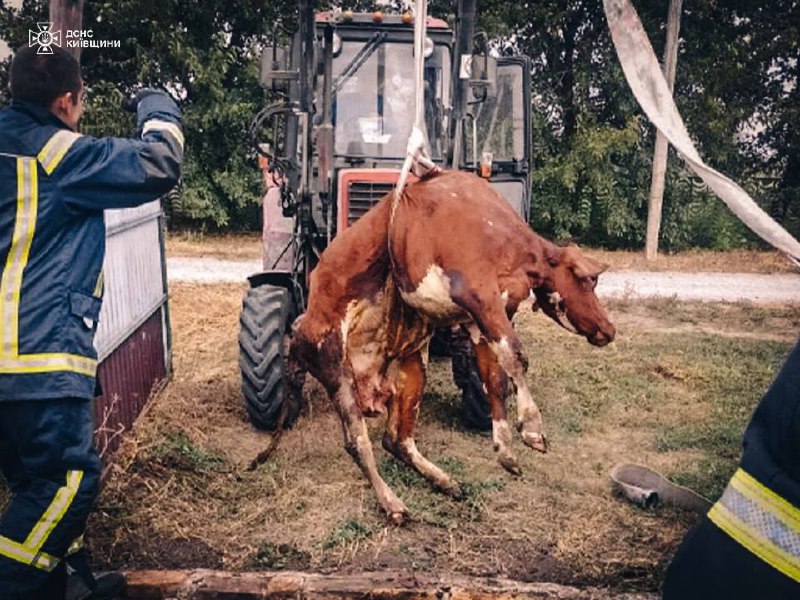
[[[500,293],[495,292],[481,295],[472,289],[459,290],[458,294],[453,294],[453,300],[470,313],[500,366],[514,383],[517,390],[517,428],[522,434],[522,441],[535,450],[547,452],[542,413],[533,401],[525,379],[528,360],[508,319]]]

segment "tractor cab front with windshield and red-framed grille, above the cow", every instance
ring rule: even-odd
[[[445,166],[453,34],[440,19],[429,17],[426,25],[425,129],[431,158]],[[340,233],[389,192],[400,173],[414,124],[414,26],[400,15],[345,12],[317,15],[316,30],[322,76],[316,79],[314,121],[322,143],[315,151],[322,171],[331,166],[318,181],[327,185],[320,191],[331,199],[329,218]],[[315,222],[327,226],[325,218],[315,211]]]

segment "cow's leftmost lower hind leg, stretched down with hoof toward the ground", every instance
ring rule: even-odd
[[[408,517],[408,509],[378,473],[367,424],[353,397],[350,384],[342,382],[333,399],[342,419],[345,450],[369,479],[378,496],[378,502],[386,511],[389,520],[397,525],[402,524]]]

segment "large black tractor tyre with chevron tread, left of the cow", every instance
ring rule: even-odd
[[[247,290],[239,317],[239,368],[250,422],[274,431],[291,427],[302,408],[286,377],[289,331],[295,315],[288,290],[261,285]]]

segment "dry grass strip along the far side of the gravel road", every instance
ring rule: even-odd
[[[761,250],[691,250],[675,254],[661,253],[649,263],[641,251],[602,250],[587,248],[589,254],[602,260],[614,271],[684,271],[725,273],[796,273],[780,252]],[[254,260],[261,258],[261,236],[257,233],[209,235],[172,233],[167,237],[170,257],[213,257],[219,260]]]

